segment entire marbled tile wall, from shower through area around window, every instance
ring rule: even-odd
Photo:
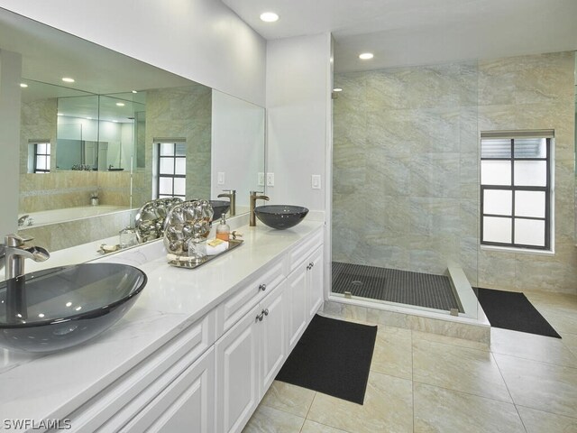
[[[577,293],[574,53],[337,74],[333,260]],[[555,130],[555,253],[479,249],[479,131]],[[478,266],[478,272],[477,272]]]

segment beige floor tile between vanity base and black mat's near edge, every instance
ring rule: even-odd
[[[291,385],[290,383],[274,381],[269,391],[264,394],[261,405],[284,410],[301,418],[307,418],[310,405],[316,392]]]

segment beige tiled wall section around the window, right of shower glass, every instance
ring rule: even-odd
[[[554,129],[554,249],[551,256],[481,249],[484,287],[577,293],[574,52],[479,62],[479,129]]]

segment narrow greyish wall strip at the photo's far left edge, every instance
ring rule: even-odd
[[[18,227],[18,191],[20,189],[20,54],[0,50],[0,244],[4,235]]]

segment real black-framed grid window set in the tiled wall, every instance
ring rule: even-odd
[[[481,244],[551,249],[553,131],[481,133]]]

